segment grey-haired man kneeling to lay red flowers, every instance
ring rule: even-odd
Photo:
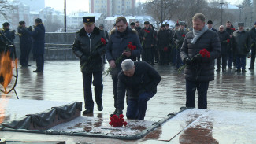
[[[157,93],[161,80],[158,72],[146,62],[133,62],[131,59],[122,62],[122,71],[118,75],[117,116],[124,109],[125,90],[128,90],[128,119],[144,120],[147,101]]]

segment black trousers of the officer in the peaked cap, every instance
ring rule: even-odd
[[[92,81],[93,76],[93,81]],[[92,100],[91,83],[95,86],[95,101],[97,105],[102,105],[102,72],[83,72],[83,98],[85,109],[93,109],[94,102]]]

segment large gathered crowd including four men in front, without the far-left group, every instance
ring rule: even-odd
[[[76,33],[72,46],[73,53],[80,58],[83,73],[83,115],[94,110],[91,84],[95,86],[98,110],[103,110],[102,71],[106,61],[109,69],[104,73],[110,73],[113,80],[115,110],[110,116],[123,113],[126,96],[126,116],[144,119],[147,101],[156,94],[161,80],[152,67],[156,63],[173,65],[176,69],[185,66],[186,106],[195,108],[195,91],[198,90],[198,108],[207,109],[207,90],[214,79],[214,71],[220,72],[222,68],[224,72],[227,66],[232,68],[233,65],[236,72],[246,72],[245,60],[250,50],[249,69],[254,69],[256,22],[249,32],[244,30],[243,23],[238,23],[237,31],[230,21],[225,28],[221,25],[216,30],[212,20],[207,23],[205,20],[202,13],[196,13],[192,18],[193,28],[187,28],[186,22],[180,21],[173,29],[169,24],[162,24],[155,31],[149,21],[141,28],[139,21],[128,24],[125,17],[117,17],[108,33],[103,24],[99,28],[95,26],[95,17],[83,17],[84,28]],[[106,43],[98,45],[102,39]]]

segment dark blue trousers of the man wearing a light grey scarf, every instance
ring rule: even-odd
[[[195,90],[198,90],[198,109],[207,109],[208,82],[186,80],[186,107],[195,108]]]

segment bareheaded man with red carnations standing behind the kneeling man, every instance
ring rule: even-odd
[[[121,72],[121,62],[128,58],[135,60],[135,57],[138,57],[142,50],[137,32],[128,27],[126,18],[117,17],[116,24],[117,28],[110,32],[109,42],[106,46],[106,59],[112,68],[110,74],[113,80],[115,108],[117,108],[117,76]],[[135,50],[127,50],[129,42],[136,46]],[[117,109],[113,114],[115,113],[117,113]]]

